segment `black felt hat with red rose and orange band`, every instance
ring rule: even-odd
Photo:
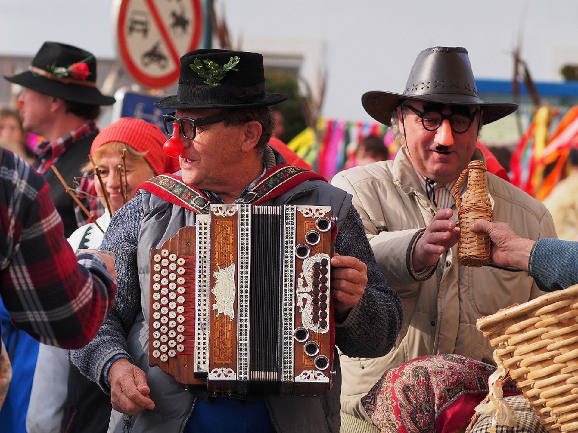
[[[56,98],[92,105],[110,105],[112,96],[97,89],[97,60],[81,48],[45,42],[28,70],[6,80]]]

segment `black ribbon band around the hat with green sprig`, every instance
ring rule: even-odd
[[[259,83],[253,87],[243,87],[234,84],[221,84],[218,86],[199,84],[179,84],[177,89],[177,101],[206,105],[212,104],[244,104],[250,102],[263,102],[265,100],[265,83]]]

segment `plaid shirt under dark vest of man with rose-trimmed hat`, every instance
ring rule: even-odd
[[[51,143],[47,140],[40,141],[38,145],[34,148],[34,153],[36,158],[34,160],[34,168],[38,173],[45,174],[46,171],[56,162],[58,156],[64,154],[64,152],[71,147],[76,141],[82,139],[93,132],[98,131],[97,124],[94,120],[88,121],[78,128],[71,130],[57,140]],[[91,212],[94,218],[98,218],[104,212],[101,202],[96,198],[96,192],[94,189],[94,177],[92,173],[84,173],[79,179],[79,185],[74,187],[74,185],[68,185],[75,189],[76,196],[80,199],[84,207]],[[76,222],[78,226],[83,226],[90,222],[89,218],[80,207],[75,203],[75,215]]]

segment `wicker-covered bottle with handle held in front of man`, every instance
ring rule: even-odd
[[[460,199],[461,186],[466,177],[466,192]],[[455,183],[454,199],[460,219],[458,260],[465,266],[486,266],[490,263],[490,236],[474,233],[469,228],[478,219],[492,220],[492,205],[486,191],[486,165],[483,162],[472,161],[462,171]]]

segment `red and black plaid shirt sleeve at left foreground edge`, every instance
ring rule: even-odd
[[[116,283],[100,257],[75,256],[44,178],[12,152],[1,159],[2,301],[14,326],[40,342],[79,348],[106,318]]]

